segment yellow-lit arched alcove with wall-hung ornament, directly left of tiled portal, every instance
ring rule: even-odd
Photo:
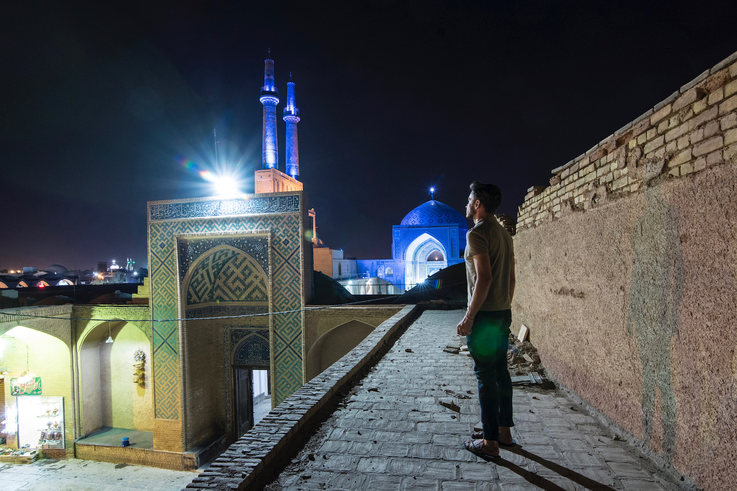
[[[106,342],[108,337],[113,342]],[[144,354],[142,384],[133,379],[136,352]],[[83,434],[100,428],[153,431],[151,347],[131,322],[100,322],[80,342]]]

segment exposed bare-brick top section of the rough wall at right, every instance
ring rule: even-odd
[[[737,66],[731,56],[532,186],[517,229],[636,192],[653,173],[685,177],[737,154]]]

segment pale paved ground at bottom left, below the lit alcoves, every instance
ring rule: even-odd
[[[197,473],[91,460],[0,464],[0,491],[178,491]]]

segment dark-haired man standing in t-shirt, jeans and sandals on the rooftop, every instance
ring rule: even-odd
[[[465,447],[483,459],[495,461],[499,446],[514,447],[510,427],[511,378],[506,364],[514,294],[514,246],[511,236],[494,217],[502,194],[493,184],[472,183],[466,216],[474,226],[466,235],[468,309],[458,324],[475,362],[483,431]]]

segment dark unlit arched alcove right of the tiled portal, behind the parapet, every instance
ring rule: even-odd
[[[307,380],[312,380],[335,361],[343,358],[374,329],[373,325],[353,319],[321,336],[307,353]]]

